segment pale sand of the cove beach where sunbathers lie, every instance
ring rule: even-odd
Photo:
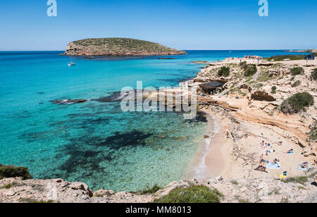
[[[299,163],[307,159],[302,156],[302,149],[298,145],[285,139],[284,130],[270,125],[244,121],[243,132],[248,137],[234,142],[231,135],[228,139],[226,136],[226,132],[230,132],[231,120],[222,114],[208,110],[204,111],[216,118],[219,128],[210,141],[209,153],[204,156],[204,163],[211,177],[221,176],[230,180],[239,180],[241,178],[279,178],[284,171],[287,171],[288,177],[304,175],[304,171],[297,170],[297,167]],[[271,148],[260,147],[262,141],[270,143]],[[282,142],[282,146],[278,146],[275,142]],[[266,155],[265,152],[268,149],[275,150],[275,152]],[[294,149],[296,153],[286,154],[290,149]],[[266,161],[272,162],[274,159],[279,159],[281,168],[267,168],[266,171],[268,173],[255,171],[254,169],[259,166],[262,154],[263,159]],[[199,179],[199,176],[197,180],[206,181],[206,179]]]

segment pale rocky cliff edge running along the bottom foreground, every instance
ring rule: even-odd
[[[223,197],[222,203],[280,203],[280,202],[317,202],[317,187],[314,175],[302,178],[290,178],[280,181],[273,178],[224,180],[212,178],[208,182],[171,182],[170,185],[155,193],[138,194],[108,190],[89,190],[82,182],[54,180],[23,180],[22,178],[4,178],[0,180],[0,203],[147,203],[154,202],[170,194],[176,188],[186,189],[200,185],[218,190]],[[315,181],[316,181],[315,176]],[[182,195],[180,195],[182,197]]]

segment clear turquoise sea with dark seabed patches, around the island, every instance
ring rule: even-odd
[[[137,191],[180,180],[206,133],[206,119],[180,113],[123,113],[99,99],[125,86],[173,87],[202,65],[283,51],[187,51],[185,56],[70,58],[63,51],[0,52],[0,163],[27,166],[34,178],[86,182],[94,190]],[[69,67],[74,61],[76,66]]]

